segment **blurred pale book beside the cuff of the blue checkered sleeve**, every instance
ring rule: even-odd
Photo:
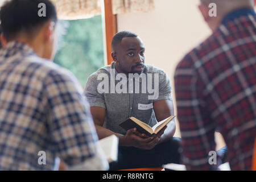
[[[117,161],[118,157],[118,138],[111,135],[98,141],[100,147],[109,163]]]

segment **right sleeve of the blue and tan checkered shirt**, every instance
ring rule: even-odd
[[[44,88],[49,133],[56,155],[68,166],[94,158],[98,138],[89,105],[75,76],[63,68],[51,70],[44,80]]]

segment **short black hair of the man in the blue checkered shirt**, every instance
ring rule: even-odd
[[[40,3],[46,5],[46,16],[39,16]],[[49,0],[10,0],[0,10],[2,32],[9,40],[21,30],[28,35],[48,20],[57,21],[55,6]],[[32,36],[32,35],[31,35]]]

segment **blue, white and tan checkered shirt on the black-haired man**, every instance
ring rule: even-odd
[[[19,42],[1,49],[0,65],[0,170],[52,170],[56,156],[69,167],[102,162],[93,159],[98,138],[71,72]]]

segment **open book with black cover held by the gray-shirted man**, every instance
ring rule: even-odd
[[[156,125],[154,125],[153,127],[147,125],[146,123],[134,117],[128,118],[125,122],[122,122],[119,126],[121,126],[126,131],[135,127],[140,133],[147,134],[148,136],[153,136],[157,134],[170,121],[172,121],[172,119],[174,119],[175,116],[176,115],[171,115],[170,117],[164,119],[163,121],[156,123]]]

